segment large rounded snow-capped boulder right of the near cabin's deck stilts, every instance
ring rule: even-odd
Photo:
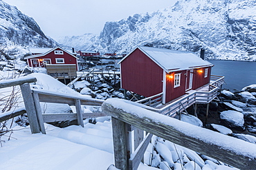
[[[235,110],[222,111],[221,122],[230,128],[244,130],[244,114]]]

